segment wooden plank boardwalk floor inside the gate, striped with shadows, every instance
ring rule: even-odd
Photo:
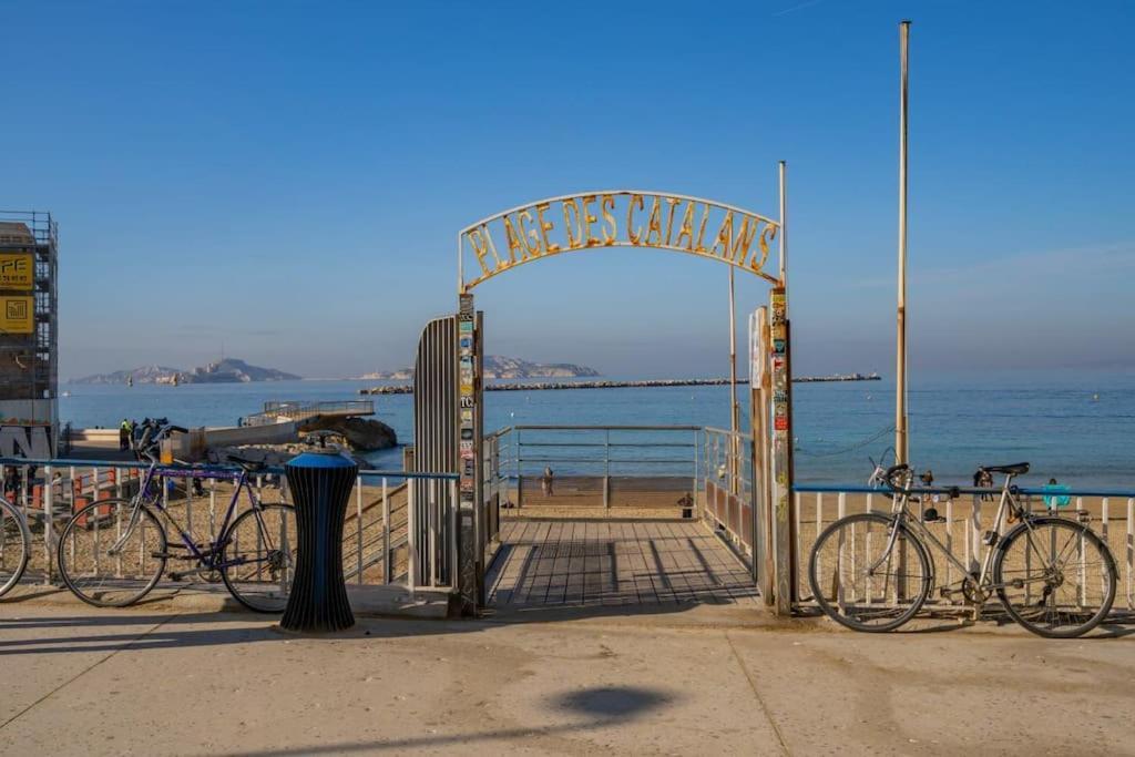
[[[498,609],[758,602],[745,565],[695,521],[503,522],[486,583]]]

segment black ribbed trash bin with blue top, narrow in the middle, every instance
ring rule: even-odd
[[[342,631],[354,625],[343,581],[343,515],[359,466],[337,452],[313,451],[284,466],[295,502],[295,580],[280,628]]]

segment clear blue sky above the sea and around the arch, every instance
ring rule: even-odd
[[[405,365],[454,308],[459,228],[623,187],[775,216],[780,159],[797,370],[891,373],[902,18],[911,380],[1135,365],[1128,2],[0,14],[0,208],[60,222],[64,376],[192,367],[222,345],[310,377]],[[494,353],[723,375],[726,276],[620,249],[477,295]],[[766,296],[739,278],[740,309]]]

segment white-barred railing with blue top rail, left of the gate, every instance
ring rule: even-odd
[[[0,459],[0,480],[5,496],[24,515],[32,531],[32,555],[25,580],[44,583],[58,581],[56,550],[59,532],[72,514],[103,498],[129,498],[137,493],[149,465],[145,463],[91,460],[23,460]],[[185,468],[191,465],[162,465]],[[221,471],[225,466],[209,466]],[[428,481],[423,487],[427,501],[415,502],[412,479]],[[177,523],[194,540],[209,541],[224,518],[232,496],[233,482],[226,478],[199,479],[201,489],[191,479],[170,478],[161,482],[163,505]],[[266,468],[250,476],[250,486],[266,504],[288,502],[287,479],[283,468]],[[397,584],[411,592],[418,588],[452,587],[442,581],[439,552],[456,549],[456,544],[431,541],[419,544],[415,520],[424,516],[431,523],[454,522],[455,513],[447,502],[456,502],[457,477],[453,473],[406,473],[400,471],[361,470],[351,491],[343,529],[343,571],[348,583]],[[448,490],[451,497],[442,496]],[[249,499],[242,496],[233,521]],[[233,522],[230,521],[230,522]],[[208,531],[205,530],[208,529]],[[445,530],[448,538],[454,529]],[[431,539],[439,538],[431,532]],[[174,536],[174,535],[170,535]]]

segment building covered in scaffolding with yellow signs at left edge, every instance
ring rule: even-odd
[[[54,451],[58,249],[51,213],[0,211],[0,455]]]

